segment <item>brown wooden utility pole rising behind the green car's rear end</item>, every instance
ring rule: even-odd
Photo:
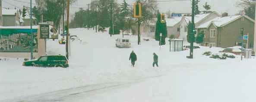
[[[70,40],[70,33],[69,33],[69,24],[70,24],[70,0],[67,0],[67,8],[66,8],[66,58],[69,59],[69,40]]]

